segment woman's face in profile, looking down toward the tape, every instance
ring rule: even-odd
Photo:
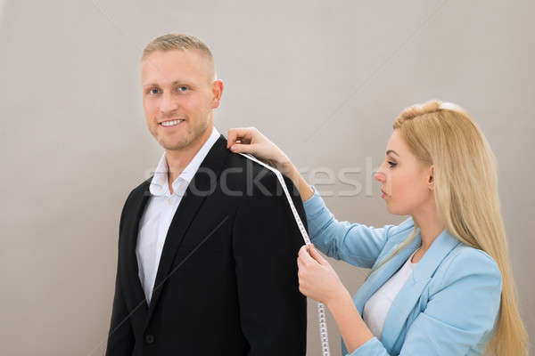
[[[391,214],[414,214],[426,204],[434,204],[432,166],[424,165],[408,149],[394,130],[386,146],[386,156],[374,178],[382,183],[381,194]],[[432,179],[432,178],[431,178]]]

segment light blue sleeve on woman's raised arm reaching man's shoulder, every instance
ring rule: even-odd
[[[358,267],[372,268],[394,225],[374,228],[360,223],[339,222],[325,206],[315,187],[303,203],[309,222],[310,241],[329,257]]]

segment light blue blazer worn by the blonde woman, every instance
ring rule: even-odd
[[[312,243],[325,255],[358,267],[381,263],[414,230],[408,218],[383,228],[338,222],[315,190],[303,203]],[[419,233],[398,255],[374,271],[353,296],[358,312],[422,243]],[[468,247],[444,230],[416,264],[374,337],[348,353],[360,355],[481,355],[493,336],[501,273],[490,255]]]

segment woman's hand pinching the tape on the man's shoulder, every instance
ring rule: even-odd
[[[283,150],[269,141],[254,127],[239,127],[228,130],[226,148],[235,153],[250,153],[279,171],[286,173],[292,162]]]

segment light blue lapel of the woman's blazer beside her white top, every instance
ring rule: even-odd
[[[446,255],[458,244],[460,241],[451,236],[447,230],[442,231],[433,241],[429,250],[425,252],[424,257],[416,264],[415,270],[405,285],[399,290],[386,320],[384,320],[383,335],[381,336],[381,342],[389,352],[398,339],[410,312],[413,311],[420,295],[422,295],[424,287],[429,283],[432,274]],[[412,252],[404,254],[407,257],[402,263],[405,263],[411,254]]]

